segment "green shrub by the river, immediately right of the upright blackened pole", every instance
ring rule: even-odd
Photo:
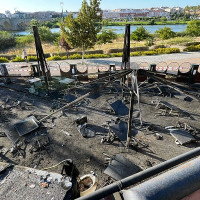
[[[135,31],[131,33],[131,40],[141,41],[151,37],[151,34],[143,27],[137,27]]]

